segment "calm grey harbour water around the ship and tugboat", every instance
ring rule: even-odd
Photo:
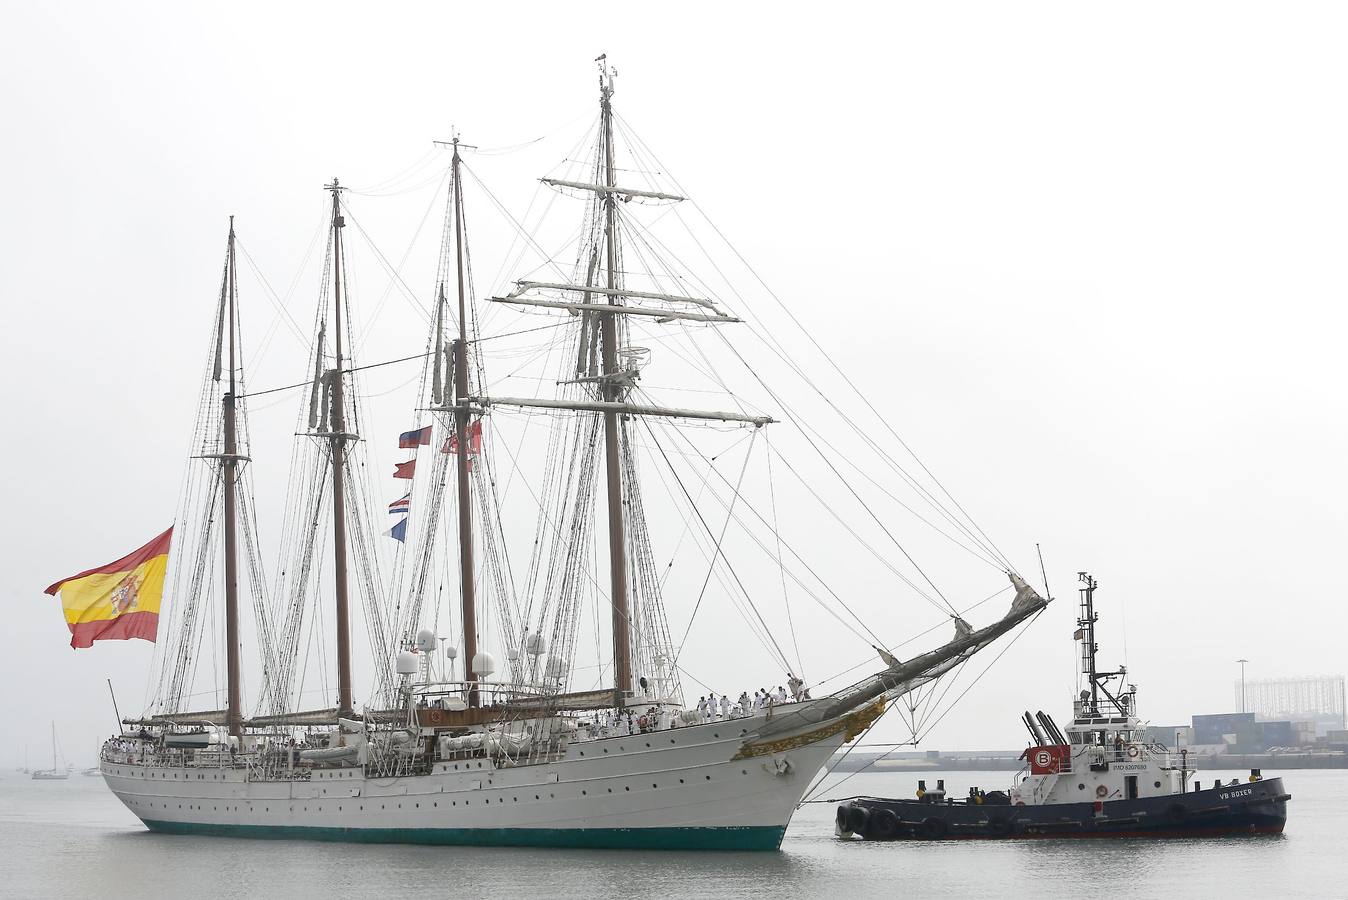
[[[1008,779],[960,772],[946,785],[961,794]],[[1293,800],[1279,838],[842,843],[834,807],[818,804],[797,814],[780,853],[631,853],[159,837],[102,779],[5,772],[0,896],[1348,897],[1348,772],[1289,772],[1285,783]],[[911,775],[865,773],[840,794],[914,787]]]

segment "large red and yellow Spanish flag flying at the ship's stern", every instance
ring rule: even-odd
[[[61,591],[73,648],[92,647],[96,640],[132,637],[154,643],[171,539],[173,528],[117,562],[62,578],[47,587],[53,597]]]

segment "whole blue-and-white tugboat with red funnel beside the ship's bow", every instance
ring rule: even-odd
[[[852,798],[838,806],[837,834],[867,841],[942,838],[1104,838],[1281,834],[1291,795],[1282,779],[1232,779],[1208,787],[1188,750],[1147,738],[1127,668],[1096,668],[1096,579],[1078,573],[1081,612],[1074,640],[1089,688],[1064,730],[1045,713],[1023,717],[1031,746],[1010,791],[971,788],[965,798],[918,781],[917,799]]]

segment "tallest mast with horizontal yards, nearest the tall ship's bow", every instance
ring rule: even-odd
[[[604,186],[612,189],[615,181],[613,162],[613,74],[608,65],[600,61],[600,112],[604,128]],[[617,195],[604,191],[604,268],[607,269],[608,304],[621,306],[617,294]],[[603,337],[601,392],[604,400],[616,403],[623,399],[620,372],[617,368],[617,314],[601,313],[600,329]],[[613,695],[615,703],[623,703],[623,693],[632,690],[632,643],[627,594],[627,524],[623,520],[623,465],[617,441],[617,412],[604,412],[604,461],[608,473],[608,569],[609,593],[613,604]]]

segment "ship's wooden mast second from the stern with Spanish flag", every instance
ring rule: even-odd
[[[333,465],[333,578],[337,594],[337,714],[352,714],[350,697],[350,605],[346,585],[346,412],[342,389],[342,322],[341,322],[341,276],[342,276],[342,244],[341,229],[345,221],[341,214],[341,186],[337,179],[328,185],[333,194],[333,300],[334,317],[333,330],[337,334],[336,354],[337,361],[329,373],[332,380],[332,420],[329,441],[332,441]]]

